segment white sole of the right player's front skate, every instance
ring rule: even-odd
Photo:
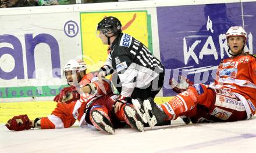
[[[152,128],[158,122],[157,122],[157,118],[155,117],[154,113],[152,112],[152,107],[151,107],[150,101],[149,100],[144,100],[143,107],[144,107],[144,110],[145,110],[145,115],[146,115],[147,120],[148,120],[148,125],[150,125],[150,127]],[[151,112],[152,117],[150,116],[149,111]]]

